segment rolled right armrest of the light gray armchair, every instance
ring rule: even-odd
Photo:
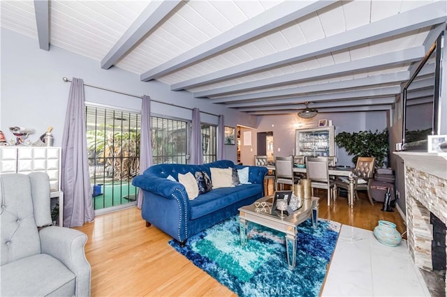
[[[87,235],[81,231],[50,226],[39,231],[41,252],[61,261],[76,275],[76,296],[90,296],[91,267],[85,257]]]

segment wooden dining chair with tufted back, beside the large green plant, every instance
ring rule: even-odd
[[[374,205],[374,200],[370,192],[370,185],[373,181],[374,163],[376,158],[374,157],[358,157],[356,169],[354,174],[356,180],[354,183],[354,195],[358,198],[358,190],[366,190],[369,202]],[[349,179],[346,176],[339,176],[336,181],[337,188],[349,190]]]

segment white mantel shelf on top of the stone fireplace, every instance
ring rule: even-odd
[[[447,180],[447,153],[423,153],[413,151],[394,152],[412,167]]]

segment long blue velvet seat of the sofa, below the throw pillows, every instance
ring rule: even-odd
[[[247,199],[247,197],[258,195],[262,190],[262,185],[259,184],[238,185],[235,188],[213,189],[206,194],[200,195],[193,201],[189,201],[191,220],[218,211],[237,201]]]

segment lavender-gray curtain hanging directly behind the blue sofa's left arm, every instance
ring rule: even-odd
[[[151,98],[142,96],[140,135],[140,174],[152,165]],[[138,190],[137,207],[142,207],[142,190]]]

